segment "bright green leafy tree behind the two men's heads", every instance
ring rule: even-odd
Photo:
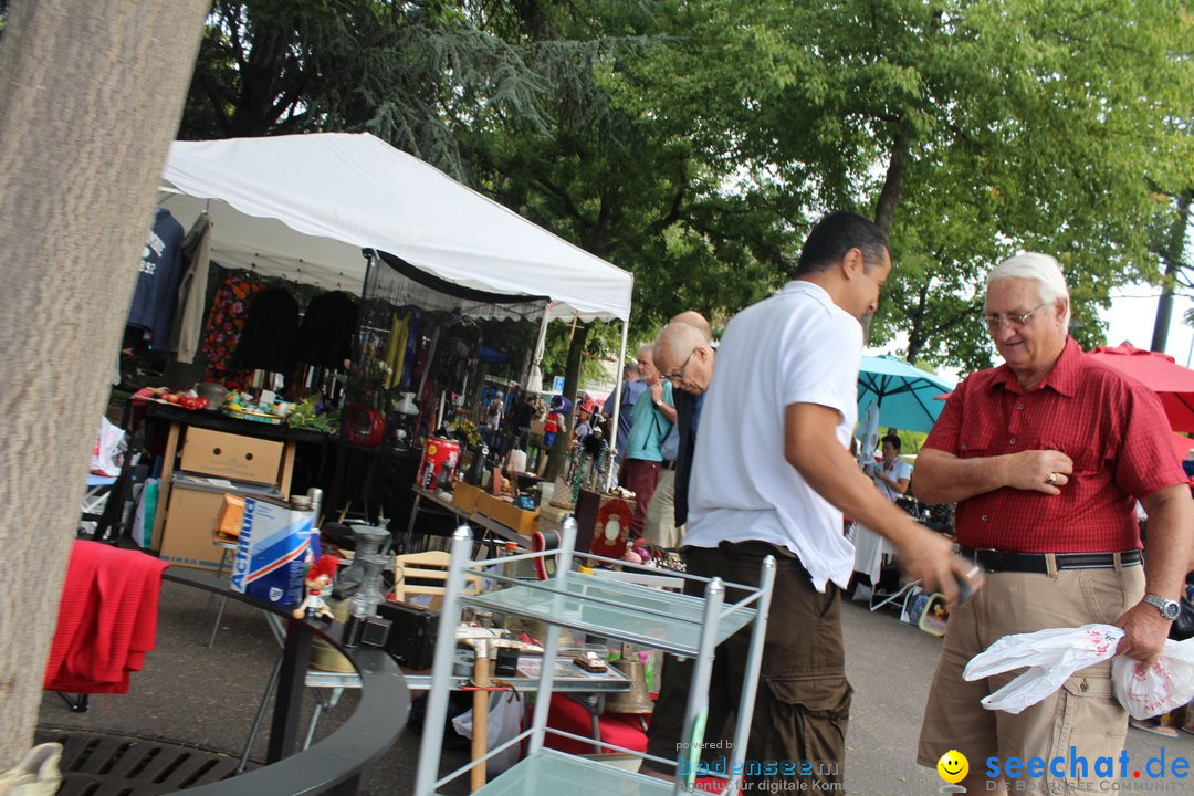
[[[980,272],[1016,248],[1061,259],[1083,341],[1113,286],[1157,274],[1144,230],[1171,210],[1153,186],[1188,185],[1194,161],[1178,0],[682,5],[710,24],[677,41],[661,93],[703,97],[698,129],[731,130],[702,140],[709,155],[802,215],[890,224],[898,270],[873,333],[906,332],[910,359],[990,360],[964,329]]]

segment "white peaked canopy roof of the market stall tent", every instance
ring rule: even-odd
[[[359,292],[376,248],[448,282],[626,320],[634,277],[368,132],[176,141],[160,202],[207,209],[211,259]]]

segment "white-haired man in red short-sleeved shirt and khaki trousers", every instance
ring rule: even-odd
[[[1002,636],[1093,622],[1126,630],[1120,654],[1156,659],[1190,560],[1194,507],[1156,394],[1069,337],[1057,260],[1021,254],[999,264],[983,322],[1005,364],[949,396],[913,474],[917,498],[958,502],[962,553],[987,573],[986,588],[949,617],[917,761],[936,766],[961,752],[973,792],[987,790],[987,758],[1041,758],[1044,773],[1026,779],[1044,782],[1024,785],[1059,792],[1089,782],[1094,761],[1124,747],[1127,712],[1112,692],[1110,662],[1079,669],[1017,715],[979,701],[1018,671],[966,683],[962,669]],[[1138,499],[1149,512],[1143,566]],[[1089,772],[1069,765],[1077,755]],[[1055,771],[1054,757],[1066,761]]]

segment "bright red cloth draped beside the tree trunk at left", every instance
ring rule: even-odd
[[[170,564],[136,550],[76,541],[42,687],[128,693],[158,633],[161,573]]]

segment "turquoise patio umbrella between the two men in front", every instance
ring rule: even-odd
[[[934,397],[953,389],[936,374],[903,359],[888,354],[863,357],[858,369],[858,416],[864,416],[874,403],[879,407],[879,425],[927,432],[944,406]]]

